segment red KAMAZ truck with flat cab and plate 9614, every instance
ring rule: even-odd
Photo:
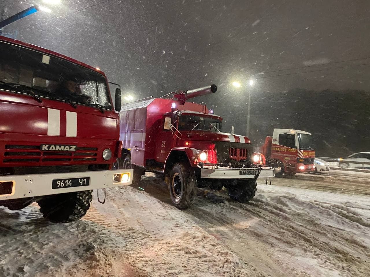
[[[92,189],[131,184],[132,170],[111,170],[122,151],[104,73],[1,36],[0,53],[0,205],[36,201],[68,222],[85,215]],[[116,110],[120,98],[116,89]]]

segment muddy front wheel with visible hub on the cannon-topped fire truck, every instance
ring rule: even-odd
[[[197,189],[196,177],[191,167],[183,163],[174,164],[166,175],[166,183],[176,208],[187,209],[194,203]]]

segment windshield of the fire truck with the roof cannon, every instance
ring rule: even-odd
[[[194,115],[182,115],[179,117],[179,131],[185,130],[203,130],[203,131],[221,131],[221,120]]]

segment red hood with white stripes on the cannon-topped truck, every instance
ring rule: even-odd
[[[181,131],[181,139],[194,141],[226,141],[226,142],[250,143],[249,138],[245,136],[199,130],[193,130],[191,132]]]

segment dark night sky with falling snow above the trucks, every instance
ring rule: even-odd
[[[337,104],[335,93],[341,99],[353,94],[360,102],[370,100],[361,92],[369,92],[370,82],[368,0],[61,0],[58,6],[3,0],[0,11],[6,7],[10,16],[27,2],[53,11],[33,14],[3,33],[98,66],[136,99],[216,83],[217,95],[196,101],[215,106],[215,113],[224,116],[225,131],[234,125],[236,133],[245,134],[250,90],[251,135],[257,142],[272,132],[274,122],[275,127],[312,131],[294,118],[295,107],[312,111],[312,120],[320,121],[325,107],[341,114],[356,110],[356,105],[346,111]],[[233,81],[242,87],[233,87]],[[333,101],[320,107],[327,95]],[[360,134],[367,139],[354,146],[339,140],[336,147],[370,151],[370,113],[359,112],[353,119],[368,126]],[[341,128],[339,136],[360,130],[345,124],[349,127]],[[317,144],[323,143],[323,129],[312,131],[320,137]],[[327,135],[325,143],[331,140]]]

